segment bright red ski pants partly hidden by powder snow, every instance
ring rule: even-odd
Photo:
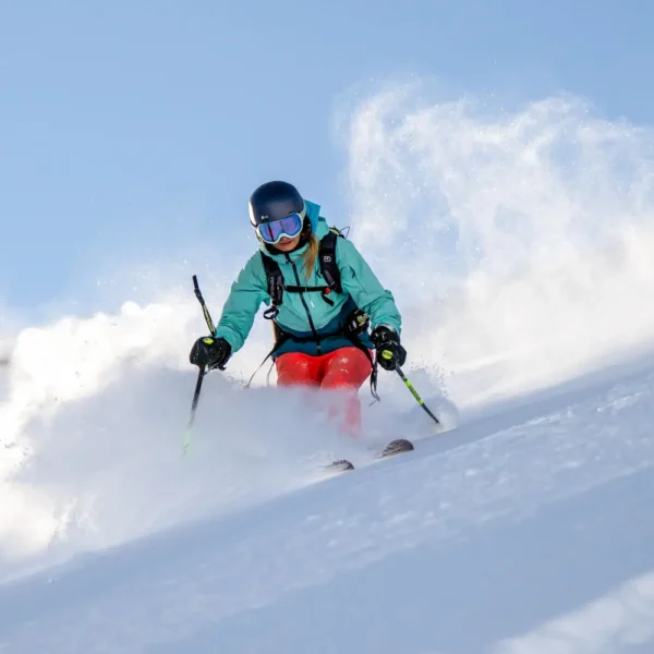
[[[367,356],[354,347],[340,348],[312,356],[302,352],[287,352],[276,360],[279,386],[312,386],[339,390],[329,404],[329,415],[340,422],[351,436],[361,433],[361,402],[359,388],[372,372]]]

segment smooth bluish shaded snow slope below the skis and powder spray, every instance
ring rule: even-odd
[[[0,586],[0,651],[654,646],[653,380]]]

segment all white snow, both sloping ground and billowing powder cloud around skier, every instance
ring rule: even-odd
[[[187,282],[3,335],[0,652],[654,652],[654,135],[421,93],[341,129],[352,238],[444,429],[389,373],[359,441],[338,398],[244,389],[259,324],[183,457]]]

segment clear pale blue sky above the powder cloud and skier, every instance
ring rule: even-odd
[[[651,124],[653,25],[646,0],[4,2],[0,301],[87,296],[198,243],[230,257],[268,179],[342,222],[335,102],[389,76]]]

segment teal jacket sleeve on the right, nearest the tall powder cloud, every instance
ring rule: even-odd
[[[352,241],[337,240],[336,263],[341,284],[356,305],[371,316],[373,329],[378,325],[401,332],[402,317],[390,291],[387,291]]]

